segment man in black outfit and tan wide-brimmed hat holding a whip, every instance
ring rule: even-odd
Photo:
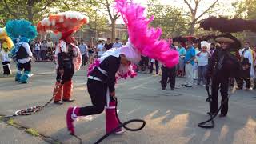
[[[238,40],[231,35],[221,35],[215,41],[221,43],[221,48],[214,51],[207,70],[207,84],[209,84],[210,78],[212,79],[210,114],[218,112],[218,89],[220,88],[223,105],[220,117],[226,117],[228,112],[229,78],[236,77],[239,74],[236,74],[239,71],[239,62],[234,55],[230,54],[230,49],[235,49],[234,43],[238,42]]]

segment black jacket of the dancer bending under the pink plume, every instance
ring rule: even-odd
[[[90,73],[90,76],[100,78],[102,82],[106,83],[110,89],[110,92],[114,91],[114,84],[115,84],[115,74],[117,73],[119,66],[121,64],[121,58],[116,58],[114,56],[107,57],[99,67],[102,70],[105,70],[107,75],[102,74],[97,67]]]

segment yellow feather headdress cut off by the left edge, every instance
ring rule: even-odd
[[[5,28],[0,28],[0,41],[2,41],[2,48],[6,50],[10,50],[14,46],[13,41],[10,39],[10,37],[8,37],[6,33]]]

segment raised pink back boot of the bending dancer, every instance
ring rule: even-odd
[[[73,122],[75,121],[79,114],[80,108],[78,107],[70,107],[66,112],[66,126],[67,130],[70,131],[70,134],[74,134],[74,125]]]

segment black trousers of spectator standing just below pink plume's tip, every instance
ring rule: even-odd
[[[162,79],[161,79],[161,85],[163,88],[166,88],[167,86],[167,80],[170,80],[170,88],[175,87],[175,78],[176,78],[176,67],[167,68],[165,66],[162,66]]]

